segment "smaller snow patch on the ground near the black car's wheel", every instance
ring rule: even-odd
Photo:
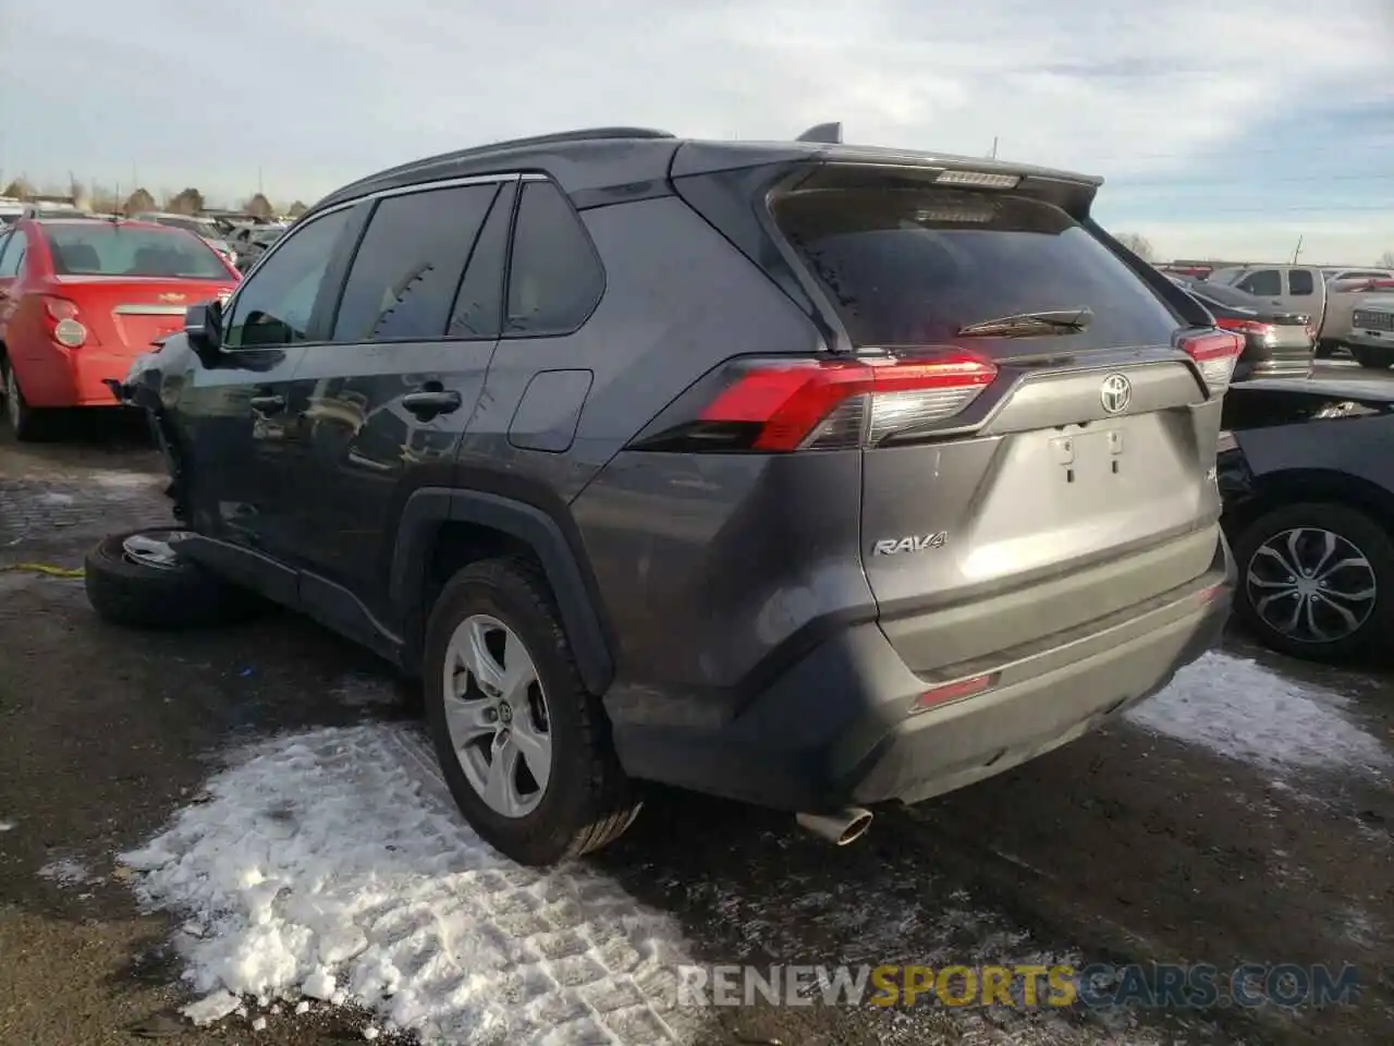
[[[1379,739],[1342,714],[1348,704],[1333,690],[1211,651],[1126,718],[1267,770],[1386,768],[1390,755]]]

